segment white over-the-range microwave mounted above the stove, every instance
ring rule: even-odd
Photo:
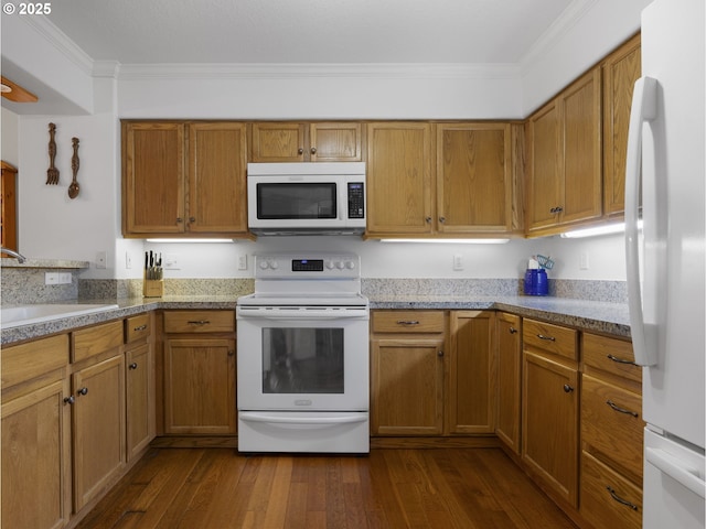
[[[247,207],[256,235],[360,235],[365,162],[248,163]]]

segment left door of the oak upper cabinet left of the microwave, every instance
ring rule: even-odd
[[[122,234],[184,231],[184,125],[122,123]]]

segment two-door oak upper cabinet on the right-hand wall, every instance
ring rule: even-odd
[[[600,67],[527,120],[527,235],[549,235],[600,218]]]

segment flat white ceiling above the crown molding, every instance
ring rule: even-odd
[[[592,0],[63,0],[49,20],[95,61],[518,63]]]

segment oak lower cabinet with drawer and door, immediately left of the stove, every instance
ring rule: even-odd
[[[164,313],[164,433],[233,435],[235,313]]]

